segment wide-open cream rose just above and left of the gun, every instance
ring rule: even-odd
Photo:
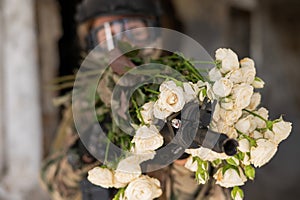
[[[182,110],[185,104],[183,89],[174,81],[163,82],[159,88],[159,98],[154,104],[154,116],[165,119],[172,112]]]

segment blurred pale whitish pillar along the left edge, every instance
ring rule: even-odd
[[[2,0],[1,112],[5,153],[1,199],[26,199],[38,186],[41,120],[34,0]],[[4,151],[3,151],[4,150]],[[4,194],[3,194],[4,193]],[[31,193],[32,194],[32,193]],[[27,198],[28,199],[28,198]]]

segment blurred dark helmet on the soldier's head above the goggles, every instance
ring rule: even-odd
[[[105,15],[156,16],[162,14],[159,0],[83,0],[77,7],[78,23]]]

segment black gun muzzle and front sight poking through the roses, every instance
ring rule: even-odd
[[[206,98],[200,107],[198,103],[188,103],[183,108],[184,115],[182,112],[170,115],[160,131],[165,144],[171,142],[188,148],[202,146],[217,153],[226,153],[228,156],[235,155],[238,142],[223,133],[217,133],[208,128],[213,114],[213,107],[214,105]],[[196,134],[190,134],[195,131]],[[178,134],[179,137],[175,137]],[[191,138],[193,136],[194,138]]]

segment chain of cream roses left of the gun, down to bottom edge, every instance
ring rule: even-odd
[[[150,116],[150,104],[146,104],[143,111],[144,116]],[[147,119],[145,117],[145,119]],[[151,122],[151,120],[147,121]],[[115,170],[108,168],[95,167],[88,172],[88,180],[103,188],[125,188],[120,194],[120,200],[152,200],[162,194],[159,180],[142,175],[140,163],[153,159],[155,150],[163,145],[163,137],[154,125],[140,126],[132,143],[131,149],[133,155],[129,156],[118,163]]]

